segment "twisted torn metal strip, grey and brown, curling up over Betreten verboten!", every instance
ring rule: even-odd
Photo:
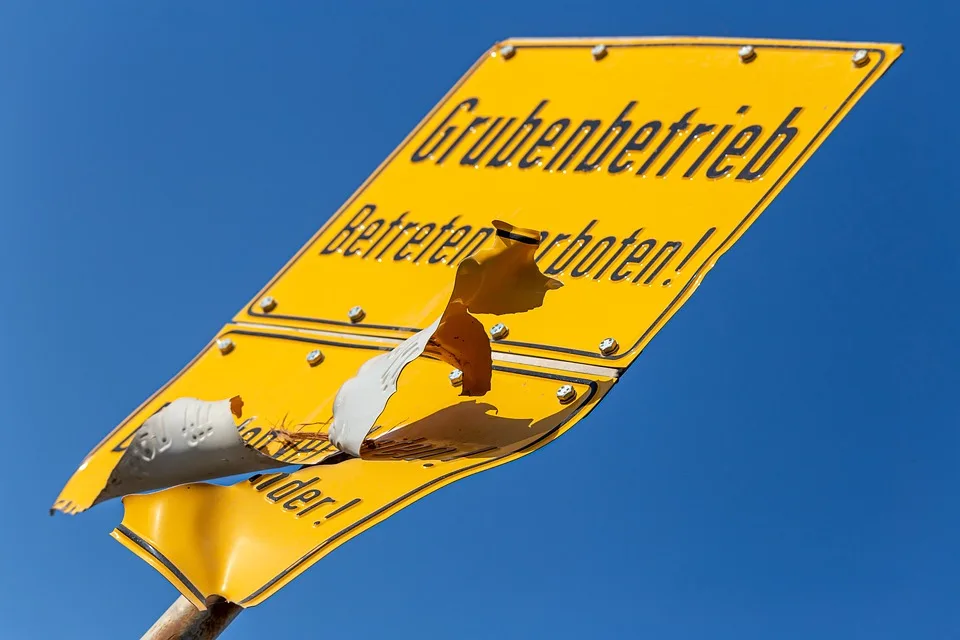
[[[547,291],[562,283],[540,272],[534,252],[540,232],[494,220],[492,247],[467,258],[457,267],[453,293],[443,315],[426,329],[406,339],[390,353],[376,356],[347,380],[333,405],[330,441],[351,455],[360,449],[377,418],[397,391],[403,369],[428,347],[463,374],[464,396],[490,390],[490,340],[472,313],[523,313],[543,305]]]

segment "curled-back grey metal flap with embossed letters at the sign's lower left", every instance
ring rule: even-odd
[[[219,402],[177,398],[133,434],[95,502],[284,466],[240,437],[234,418],[242,412],[239,396]]]

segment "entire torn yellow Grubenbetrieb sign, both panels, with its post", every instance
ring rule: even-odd
[[[901,50],[499,43],[53,510],[122,497],[113,537],[182,594],[145,637],[215,637],[366,528],[575,426]]]

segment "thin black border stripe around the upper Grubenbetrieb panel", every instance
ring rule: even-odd
[[[742,41],[741,43],[739,43],[739,44],[735,44],[735,43],[733,43],[733,42],[730,42],[730,43],[697,42],[696,40],[693,40],[693,41],[691,41],[691,42],[649,42],[649,43],[641,43],[641,44],[610,44],[610,45],[608,45],[608,48],[609,48],[609,49],[615,49],[615,48],[616,48],[616,49],[629,49],[629,48],[645,48],[645,47],[698,47],[698,48],[700,48],[700,47],[702,47],[702,48],[710,48],[710,47],[713,47],[713,48],[721,48],[721,49],[736,49],[736,48],[740,47],[740,46],[743,44],[743,42],[749,42],[749,40],[750,40],[749,38],[745,38],[745,39],[743,39],[743,41]],[[522,49],[522,48],[531,48],[531,49],[578,49],[578,48],[592,48],[594,45],[593,45],[592,43],[585,43],[585,44],[550,44],[550,43],[543,43],[543,44],[520,44],[520,45],[515,45],[515,46],[517,46],[518,49]],[[778,45],[778,44],[760,44],[760,45],[757,45],[757,47],[760,48],[760,49],[768,49],[768,50],[787,49],[787,50],[799,50],[799,51],[848,51],[848,52],[851,52],[851,53],[854,52],[854,51],[858,51],[858,50],[860,50],[860,49],[863,48],[863,47],[857,47],[857,46],[831,47],[831,46],[818,46],[818,45],[787,45],[787,44],[780,44],[780,45]],[[615,361],[615,360],[621,360],[621,359],[627,358],[627,357],[633,357],[633,352],[634,352],[634,350],[635,350],[640,344],[642,344],[642,343],[648,338],[648,336],[650,336],[652,333],[656,332],[656,331],[659,329],[659,326],[660,326],[661,321],[662,321],[666,316],[668,316],[670,313],[673,312],[673,310],[678,306],[680,300],[686,295],[686,293],[691,289],[691,287],[694,286],[694,283],[698,283],[698,282],[701,280],[701,277],[703,276],[703,274],[704,274],[704,272],[705,272],[705,267],[706,267],[706,265],[710,264],[711,261],[712,261],[717,255],[719,255],[720,253],[723,253],[724,251],[726,251],[727,249],[729,249],[729,247],[727,246],[727,244],[731,241],[731,239],[732,239],[733,237],[735,237],[735,236],[737,235],[737,233],[739,233],[740,230],[741,230],[745,225],[747,225],[748,223],[752,222],[753,218],[755,218],[756,215],[760,212],[760,210],[761,210],[763,207],[766,206],[766,203],[767,203],[767,201],[769,200],[771,194],[773,194],[773,192],[776,191],[776,190],[780,187],[780,185],[784,183],[784,181],[788,180],[789,177],[791,177],[791,172],[793,171],[794,167],[796,167],[799,163],[802,163],[802,162],[806,161],[806,159],[807,159],[807,157],[808,157],[808,155],[809,155],[809,153],[810,153],[810,150],[811,150],[816,144],[819,144],[819,143],[821,142],[821,138],[823,137],[824,132],[825,132],[827,129],[829,129],[829,128],[834,124],[834,122],[837,120],[837,118],[838,118],[838,116],[840,115],[840,113],[843,112],[843,110],[847,107],[848,104],[850,104],[851,100],[853,100],[855,97],[857,97],[857,96],[860,95],[860,92],[861,92],[861,89],[863,88],[863,86],[864,86],[871,78],[873,78],[873,76],[874,76],[874,74],[877,72],[877,70],[880,69],[880,67],[883,66],[883,63],[884,63],[884,61],[886,60],[886,52],[885,52],[883,49],[867,49],[867,51],[870,52],[871,54],[877,54],[877,56],[876,56],[876,64],[874,64],[873,67],[864,75],[864,77],[863,77],[863,79],[860,81],[860,83],[857,84],[857,86],[854,88],[854,90],[851,92],[851,94],[850,94],[849,96],[847,96],[847,98],[840,104],[840,106],[837,108],[837,110],[834,111],[833,114],[827,119],[827,121],[824,123],[823,127],[821,127],[819,131],[817,131],[817,133],[813,136],[813,138],[810,140],[810,142],[807,144],[807,146],[804,147],[803,150],[802,150],[802,151],[797,155],[797,157],[794,159],[794,161],[793,161],[792,163],[790,163],[790,166],[788,166],[788,167],[783,171],[783,173],[780,175],[780,177],[779,177],[776,181],[774,181],[773,184],[770,185],[770,188],[766,191],[766,193],[764,193],[764,194],[760,197],[760,199],[759,199],[759,200],[757,201],[757,203],[753,206],[753,208],[750,209],[750,211],[747,213],[746,217],[744,217],[743,220],[740,221],[740,223],[734,228],[734,230],[723,240],[723,242],[720,244],[720,246],[717,247],[717,249],[716,249],[712,254],[710,254],[710,256],[709,256],[706,260],[704,260],[704,261],[700,264],[700,266],[697,267],[696,272],[693,274],[693,276],[690,277],[690,279],[688,280],[687,284],[686,284],[682,289],[680,289],[680,291],[677,293],[676,297],[674,297],[674,299],[670,301],[670,303],[667,305],[667,307],[664,309],[664,311],[663,311],[659,316],[657,316],[657,318],[653,321],[653,323],[650,325],[650,327],[649,327],[648,329],[646,329],[646,330],[643,332],[643,334],[641,334],[640,338],[639,338],[629,349],[625,349],[625,350],[623,350],[623,351],[621,351],[620,353],[617,353],[617,354],[612,354],[612,355],[610,355],[610,356],[603,356],[603,357],[601,357],[601,356],[599,356],[598,353],[595,352],[595,351],[583,351],[583,350],[580,350],[580,349],[571,349],[571,348],[568,348],[568,347],[558,347],[558,346],[553,346],[553,345],[543,345],[543,344],[537,344],[537,343],[532,343],[532,342],[515,342],[515,341],[512,341],[512,340],[500,340],[500,341],[498,341],[498,344],[512,345],[512,346],[517,346],[517,347],[526,347],[526,348],[530,348],[530,349],[538,349],[538,350],[544,350],[544,351],[553,351],[553,352],[556,352],[556,353],[565,353],[565,354],[570,354],[570,355],[589,356],[589,357],[591,357],[591,358],[596,358],[596,359],[598,359],[598,360],[601,360],[601,359],[602,359],[602,360],[607,361],[607,362],[611,362],[611,361]],[[484,58],[484,59],[485,59],[485,58]],[[386,169],[388,166],[390,166],[390,164],[391,164],[391,163],[393,162],[393,160],[400,154],[400,152],[407,147],[407,142],[408,142],[408,141],[412,141],[413,138],[414,138],[415,136],[417,136],[417,135],[420,133],[420,131],[429,123],[429,121],[430,121],[431,117],[433,116],[433,114],[436,113],[436,112],[440,109],[440,107],[442,107],[443,105],[447,104],[449,98],[451,98],[451,97],[453,96],[453,94],[454,94],[458,89],[460,89],[460,87],[461,87],[470,77],[473,76],[474,72],[480,67],[480,64],[479,64],[479,63],[482,62],[484,59],[481,59],[481,61],[478,61],[478,63],[475,63],[475,64],[473,65],[473,67],[471,67],[471,69],[453,86],[453,88],[452,88],[452,89],[450,90],[450,92],[447,94],[447,97],[446,97],[442,102],[440,102],[439,104],[437,104],[437,105],[430,111],[430,113],[427,115],[427,117],[424,118],[424,121],[421,122],[421,123],[416,127],[416,129],[414,129],[414,131],[413,131],[412,134],[410,134],[407,138],[404,139],[404,142],[401,143],[401,145],[400,145],[399,147],[397,147],[396,149],[394,149],[394,151],[390,154],[390,156],[388,156],[387,161],[384,162],[380,167],[378,167],[377,170],[374,171],[374,173],[371,174],[369,178],[367,178],[366,182],[364,183],[364,186],[363,186],[356,194],[354,194],[353,196],[351,196],[351,197],[340,207],[340,209],[338,209],[337,212],[336,212],[333,216],[331,216],[331,218],[330,218],[326,223],[324,223],[323,228],[321,228],[321,230],[318,231],[318,232],[316,233],[316,235],[315,235],[313,238],[310,239],[310,241],[296,254],[296,256],[294,256],[295,258],[299,258],[299,257],[302,256],[303,254],[305,254],[307,251],[309,251],[309,250],[319,241],[320,236],[322,235],[322,232],[324,231],[324,229],[325,229],[327,226],[329,226],[330,224],[333,224],[337,219],[339,219],[340,216],[343,215],[344,212],[346,212],[346,210],[347,210],[351,205],[353,205],[354,202],[356,202],[356,200],[358,200],[358,199],[363,195],[363,193],[366,191],[366,189],[369,188],[369,187],[372,185],[373,181],[383,172],[383,170]],[[263,288],[263,291],[266,292],[266,291],[268,291],[271,287],[273,287],[273,286],[277,283],[277,281],[278,281],[278,280],[290,269],[290,267],[292,267],[295,263],[296,263],[296,260],[291,260],[288,265],[286,265],[283,269],[281,269],[281,270],[267,283],[267,285]],[[281,315],[281,314],[273,314],[273,313],[270,313],[270,314],[257,313],[256,310],[255,310],[255,306],[256,306],[256,300],[253,300],[253,301],[250,303],[250,306],[247,308],[247,313],[248,313],[251,317],[259,318],[259,319],[270,319],[270,318],[273,318],[273,319],[278,319],[278,320],[296,320],[296,321],[299,321],[299,322],[312,323],[312,324],[325,324],[325,325],[335,325],[335,326],[345,326],[345,327],[355,327],[355,326],[356,326],[356,325],[354,325],[354,324],[351,323],[351,322],[339,321],[339,320],[322,320],[322,319],[317,319],[317,318],[307,318],[307,317],[301,317],[301,316],[289,316],[289,315]],[[382,329],[382,330],[387,330],[387,331],[398,331],[398,332],[410,332],[410,333],[415,333],[415,332],[417,332],[417,331],[420,331],[420,329],[416,329],[416,328],[411,328],[411,327],[399,327],[399,326],[392,326],[392,325],[367,324],[367,325],[364,325],[364,326],[369,327],[369,328],[371,328],[371,329]]]

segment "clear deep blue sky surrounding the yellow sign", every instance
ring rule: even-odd
[[[906,53],[589,418],[225,637],[958,637],[958,24],[948,0],[4,2],[2,635],[139,637],[176,597],[107,535],[119,501],[47,508],[490,44],[716,35]]]

